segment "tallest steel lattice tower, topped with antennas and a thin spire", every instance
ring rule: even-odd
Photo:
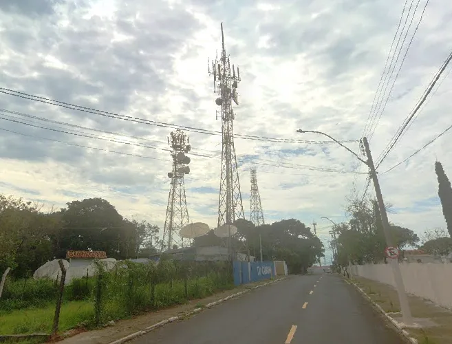
[[[244,219],[244,206],[241,201],[239,172],[234,148],[233,120],[235,119],[232,100],[237,100],[237,87],[240,81],[239,67],[237,74],[235,67],[230,68],[230,59],[224,49],[223,23],[222,28],[222,56],[208,63],[208,72],[213,76],[213,92],[219,97],[215,100],[222,107],[222,171],[219,184],[218,224],[233,224],[236,219]],[[212,68],[212,69],[211,69]],[[217,111],[218,118],[219,111]]]

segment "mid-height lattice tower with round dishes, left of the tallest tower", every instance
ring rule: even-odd
[[[189,224],[189,211],[186,208],[186,195],[184,175],[190,173],[190,158],[185,155],[191,150],[190,139],[184,131],[177,129],[171,131],[168,144],[171,147],[173,158],[173,170],[168,173],[171,178],[168,206],[163,230],[161,251],[169,250],[173,246],[186,247],[190,245],[190,239],[179,236],[179,231]]]

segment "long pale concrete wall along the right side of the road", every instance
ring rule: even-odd
[[[452,264],[400,264],[405,289],[410,294],[452,308]],[[352,266],[352,275],[395,286],[390,264]]]

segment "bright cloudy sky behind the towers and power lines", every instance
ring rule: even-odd
[[[246,217],[254,165],[266,222],[315,221],[328,245],[330,222],[321,217],[347,219],[347,197],[363,195],[365,166],[343,147],[319,143],[327,138],[296,131],[323,131],[358,154],[365,135],[379,162],[451,50],[452,3],[431,1],[422,21],[425,0],[406,5],[401,53],[396,39],[397,62],[387,65],[394,72],[378,93],[403,1],[1,1],[0,87],[170,126],[0,93],[0,193],[47,208],[103,197],[125,217],[163,228],[171,125],[221,131],[207,65],[221,47],[223,22],[226,50],[241,74],[235,133],[312,141],[235,139]],[[445,227],[434,162],[452,175],[450,133],[384,172],[451,125],[450,70],[378,167],[385,202],[394,205],[389,220],[418,234]],[[189,217],[213,228],[221,136],[187,133]],[[367,194],[374,195],[372,185]]]

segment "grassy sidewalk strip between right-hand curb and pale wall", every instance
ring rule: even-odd
[[[353,277],[352,281],[392,319],[402,322],[397,291],[392,286],[363,277]],[[419,344],[452,343],[452,310],[411,294],[408,299],[414,321],[419,325],[418,328],[405,327],[410,336],[416,338]]]

